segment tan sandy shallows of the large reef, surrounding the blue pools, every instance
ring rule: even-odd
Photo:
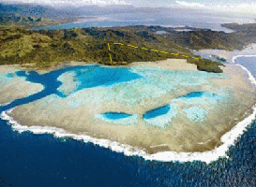
[[[197,72],[196,65],[189,65],[186,60],[134,63],[129,67],[138,72],[143,68],[153,67],[188,73]],[[51,126],[50,133],[53,133],[54,129],[58,129],[57,132],[61,131],[62,134],[69,135],[69,137],[86,137],[85,139],[89,138],[93,142],[105,142],[102,143],[104,145],[112,145],[115,142],[114,145],[118,144],[118,148],[124,145],[123,148],[129,148],[127,151],[136,150],[133,153],[141,152],[140,154],[148,159],[154,157],[149,156],[150,154],[155,155],[156,158],[159,155],[164,158],[166,155],[162,155],[161,152],[169,152],[168,158],[170,159],[173,158],[170,155],[176,156],[173,152],[212,151],[216,147],[223,147],[222,136],[230,131],[237,122],[248,117],[252,113],[252,104],[255,103],[255,90],[247,79],[247,72],[235,65],[223,67],[223,71],[226,77],[213,79],[210,78],[213,75],[210,73],[207,74],[210,81],[196,84],[195,80],[194,86],[183,85],[183,89],[181,87],[173,88],[166,92],[159,89],[161,79],[158,80],[159,84],[157,83],[155,87],[151,86],[150,89],[143,87],[140,82],[131,81],[113,87],[89,88],[74,94],[71,91],[75,84],[70,82],[67,86],[63,84],[61,88],[66,94],[69,94],[66,98],[52,94],[33,103],[14,108],[3,115],[8,114],[15,122],[26,125],[26,127],[17,128],[32,131],[39,129],[38,132],[48,132],[47,129]],[[67,74],[61,80],[65,82],[65,79],[69,81],[70,78],[70,74]],[[195,78],[191,77],[191,79]],[[179,84],[177,82],[175,87],[178,87]],[[184,108],[192,107],[195,104],[184,104],[175,98],[179,95],[199,91],[223,92],[223,95],[229,95],[218,103],[205,101],[200,104],[202,108],[207,109],[209,114],[203,122],[192,122],[186,116]],[[144,95],[144,93],[147,94]],[[136,95],[137,99],[131,99],[132,95]],[[157,118],[155,121],[143,120],[143,114],[146,111],[167,104],[177,107],[178,115],[172,120],[167,120],[168,115]],[[106,111],[126,112],[132,114],[133,118],[125,123],[104,121],[98,117],[98,114]],[[164,129],[154,125],[154,123],[165,120],[163,125],[166,127]],[[225,146],[227,147],[226,144]]]

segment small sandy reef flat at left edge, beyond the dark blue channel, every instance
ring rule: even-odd
[[[0,67],[0,105],[6,105],[15,99],[26,97],[43,90],[43,86],[32,83],[16,75],[19,65],[1,65]]]

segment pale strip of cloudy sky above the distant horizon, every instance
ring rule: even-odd
[[[132,5],[134,7],[178,7],[255,13],[255,0],[0,0],[5,3],[36,3],[53,7],[86,5]]]

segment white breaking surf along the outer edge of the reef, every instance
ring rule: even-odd
[[[241,55],[243,56],[243,55]],[[256,85],[256,80],[252,77],[251,73],[248,71],[246,67],[243,65],[239,65],[241,68],[246,70],[248,73],[248,79],[250,80],[251,84]],[[18,122],[15,122],[12,117],[8,116],[14,108],[11,108],[7,111],[2,111],[1,118],[3,120],[8,121],[8,124],[12,126],[13,130],[16,130],[20,133],[23,131],[31,131],[33,134],[53,134],[54,137],[71,137],[77,140],[83,140],[83,142],[92,142],[100,147],[111,149],[112,151],[116,152],[123,152],[125,155],[128,156],[142,156],[145,160],[156,160],[161,162],[171,162],[171,161],[178,161],[178,162],[192,162],[192,161],[202,161],[207,164],[211,163],[212,161],[218,160],[220,157],[226,157],[226,151],[229,150],[229,147],[234,145],[235,140],[243,135],[244,131],[248,127],[251,122],[255,120],[256,115],[256,105],[254,105],[252,109],[252,113],[243,121],[238,122],[233,128],[221,136],[220,141],[223,143],[218,148],[215,148],[212,151],[203,151],[203,152],[176,152],[176,151],[162,151],[154,154],[148,154],[146,151],[142,149],[132,147],[126,144],[120,144],[116,141],[111,141],[108,139],[98,139],[94,137],[89,137],[83,134],[70,134],[68,131],[50,127],[50,126],[26,126],[21,125]]]

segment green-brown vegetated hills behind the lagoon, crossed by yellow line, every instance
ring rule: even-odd
[[[164,54],[151,50],[113,45],[120,42],[140,48],[164,50],[179,55]],[[111,44],[111,50],[108,49]],[[110,61],[110,53],[113,63]],[[136,28],[120,27],[86,28],[53,31],[28,31],[22,27],[2,28],[0,31],[1,64],[20,64],[34,68],[47,68],[61,62],[77,61],[104,65],[127,65],[139,61],[158,61],[167,58],[184,58],[199,70],[220,73],[217,62],[195,57],[188,48],[173,41],[166,42],[163,36],[151,36],[137,32]]]

